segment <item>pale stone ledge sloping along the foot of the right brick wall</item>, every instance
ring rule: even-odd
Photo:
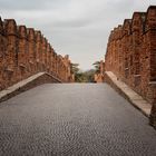
[[[149,117],[152,105],[143,99],[137,92],[129,88],[125,82],[117,79],[111,71],[105,71],[106,82],[115,88],[120,95],[123,95],[133,106],[139,109],[146,117]]]

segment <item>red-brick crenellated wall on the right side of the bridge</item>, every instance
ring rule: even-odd
[[[156,105],[156,6],[110,32],[105,69]]]

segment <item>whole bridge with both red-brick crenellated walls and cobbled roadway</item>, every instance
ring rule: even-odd
[[[145,98],[154,126],[155,41],[156,7],[135,12],[111,31],[97,76]],[[0,96],[29,82],[72,82],[70,66],[40,31],[0,20]],[[2,156],[155,156],[155,145],[148,118],[107,84],[46,84],[0,104]]]

